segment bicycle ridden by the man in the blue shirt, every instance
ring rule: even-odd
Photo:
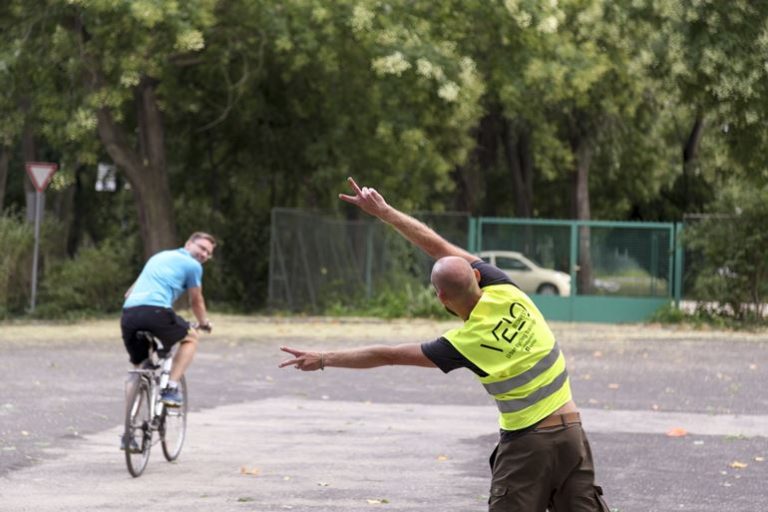
[[[183,398],[180,407],[168,407],[160,401],[160,391],[168,385],[172,354],[163,342],[148,331],[136,336],[149,341],[149,358],[141,368],[130,370],[125,410],[123,444],[128,472],[141,476],[149,462],[153,444],[160,442],[168,462],[179,457],[187,433],[187,382],[179,379],[179,392]],[[155,432],[158,437],[153,439]]]

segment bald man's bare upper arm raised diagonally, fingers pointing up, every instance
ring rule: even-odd
[[[470,263],[479,259],[472,253],[452,244],[423,222],[387,204],[384,197],[376,189],[371,187],[360,188],[352,178],[347,178],[347,181],[350,187],[352,187],[354,195],[339,194],[339,199],[352,203],[365,213],[390,224],[408,241],[432,258],[440,259],[445,256],[458,256]]]

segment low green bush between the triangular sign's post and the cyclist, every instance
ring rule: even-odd
[[[112,241],[82,248],[75,258],[52,265],[42,281],[36,315],[61,317],[114,313],[136,277],[129,244]]]

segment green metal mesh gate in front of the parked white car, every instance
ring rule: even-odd
[[[487,217],[473,222],[473,252],[514,251],[570,277],[567,294],[526,290],[550,319],[643,321],[680,298],[676,263],[681,266],[682,257],[672,223]]]

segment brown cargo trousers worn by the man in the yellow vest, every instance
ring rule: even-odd
[[[580,423],[499,443],[490,463],[489,512],[610,512]]]

